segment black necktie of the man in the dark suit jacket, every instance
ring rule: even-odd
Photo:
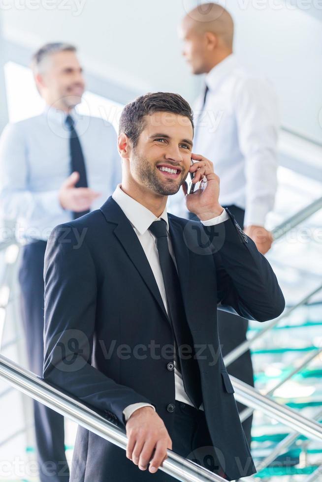
[[[176,344],[178,369],[181,371],[185,392],[194,406],[199,408],[202,402],[199,367],[197,361],[193,359],[193,338],[186,319],[178,273],[169,251],[166,222],[163,219],[154,221],[149,230],[157,238],[169,318]],[[187,346],[191,347],[190,354],[186,351]],[[185,350],[182,355],[180,347]]]

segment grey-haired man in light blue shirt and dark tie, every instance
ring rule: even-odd
[[[44,112],[8,124],[0,140],[3,214],[17,222],[23,247],[19,272],[22,318],[30,369],[42,375],[43,264],[52,229],[96,209],[121,180],[117,136],[108,122],[80,116],[74,107],[85,89],[74,46],[46,44],[32,59]],[[34,404],[39,477],[68,481],[64,419]]]

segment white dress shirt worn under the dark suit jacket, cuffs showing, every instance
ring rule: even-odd
[[[115,189],[114,193],[112,194],[112,198],[120,206],[124,214],[129,219],[129,222],[131,223],[132,228],[134,229],[142,245],[144,253],[151,266],[154,277],[156,278],[156,282],[161,294],[162,301],[164,303],[164,307],[166,309],[166,312],[169,314],[163,276],[161,271],[161,265],[159,260],[157,241],[156,241],[156,238],[151,233],[151,231],[149,230],[150,225],[154,221],[158,219],[164,219],[167,226],[169,252],[174,261],[175,266],[177,266],[176,260],[173,254],[171,239],[169,237],[169,223],[168,223],[168,215],[167,215],[166,208],[162,212],[161,216],[158,218],[155,214],[153,214],[153,212],[149,211],[147,208],[142,206],[142,204],[138,203],[137,201],[135,201],[135,199],[131,198],[128,194],[122,191],[121,184],[119,184]],[[226,219],[228,219],[228,217],[229,216],[227,212],[224,210],[220,216],[214,217],[213,219],[208,219],[207,221],[204,221],[203,224],[206,226],[215,225],[220,222],[224,222]],[[182,376],[180,371],[177,369],[175,360],[174,360],[174,380],[175,380],[176,400],[179,400],[181,402],[184,402],[184,403],[187,403],[188,405],[193,406],[192,401],[190,400],[190,398],[188,397],[187,393],[184,390]],[[126,407],[123,411],[125,420],[128,421],[129,417],[132,415],[132,413],[135,410],[145,406],[150,406],[154,408],[153,405],[149,405],[147,403],[133,403],[128,407]],[[200,409],[203,410],[203,405],[200,406]]]

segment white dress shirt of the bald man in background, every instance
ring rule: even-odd
[[[206,75],[205,83],[205,106],[202,110],[204,91],[194,106],[193,152],[214,163],[220,204],[244,209],[245,226],[264,226],[277,187],[275,92],[267,80],[239,65],[233,54]],[[182,206],[179,199],[170,199],[169,211],[180,215],[178,204]]]

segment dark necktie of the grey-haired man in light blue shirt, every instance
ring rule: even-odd
[[[79,173],[79,180],[75,184],[75,187],[88,187],[87,177],[86,177],[86,167],[82,151],[82,146],[80,145],[77,132],[74,128],[74,121],[71,116],[66,117],[66,124],[70,130],[69,138],[69,150],[70,150],[70,172],[77,171]],[[90,212],[73,212],[73,219],[83,216]]]

